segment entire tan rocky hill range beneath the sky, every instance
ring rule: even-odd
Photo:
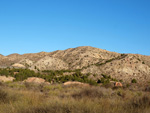
[[[80,69],[82,73],[107,74],[124,81],[150,80],[150,56],[119,54],[89,46],[50,53],[0,55],[0,68],[6,67],[35,71]]]

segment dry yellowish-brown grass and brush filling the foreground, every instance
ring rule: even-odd
[[[15,83],[12,87],[13,84],[7,84],[5,88],[0,86],[0,113],[150,112],[150,95],[146,92],[102,87],[63,87],[59,84],[31,85],[30,89],[29,84],[23,87]]]

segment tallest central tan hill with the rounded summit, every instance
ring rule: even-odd
[[[69,64],[70,69],[81,69],[91,64],[95,64],[102,59],[112,59],[119,56],[119,53],[83,46],[70,48],[64,51],[57,51],[53,57],[60,58]]]

